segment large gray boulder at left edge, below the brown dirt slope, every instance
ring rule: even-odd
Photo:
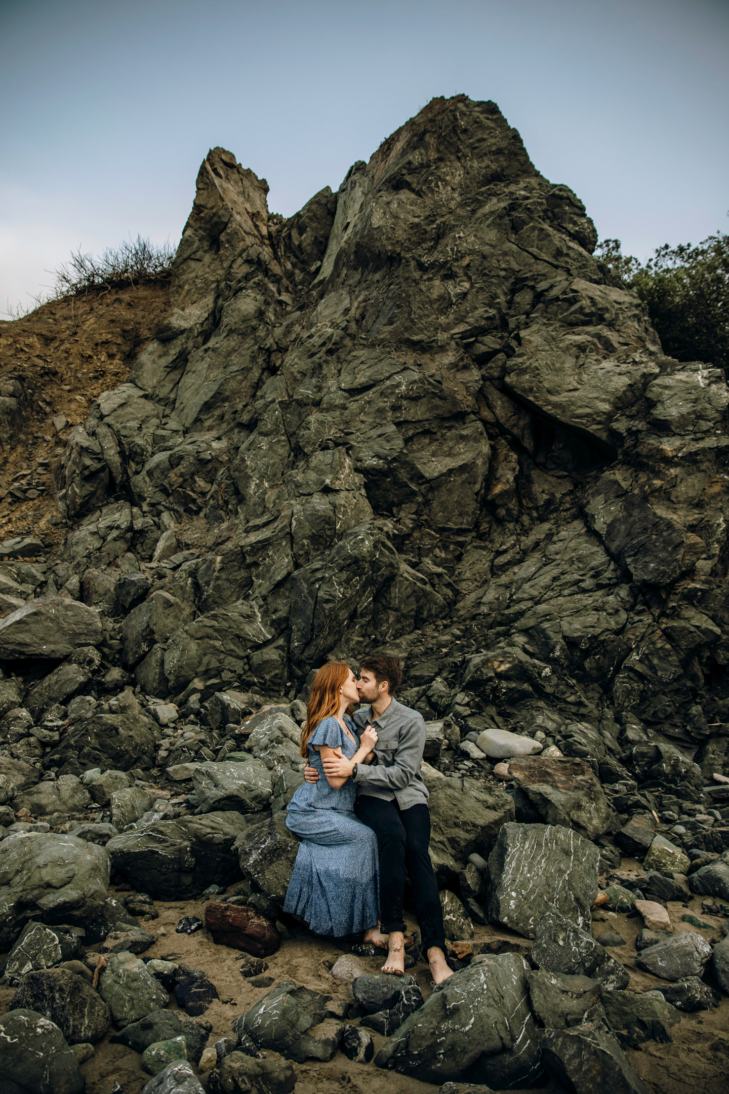
[[[68,657],[103,637],[95,608],[63,596],[39,597],[0,619],[0,660]]]

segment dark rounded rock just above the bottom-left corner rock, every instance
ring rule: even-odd
[[[69,1045],[101,1040],[111,1015],[83,979],[64,968],[27,973],[13,996],[11,1010],[31,1010],[55,1022]]]

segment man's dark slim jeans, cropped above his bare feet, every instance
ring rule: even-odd
[[[431,814],[427,805],[401,810],[397,802],[358,794],[354,812],[377,836],[379,847],[379,896],[381,930],[403,931],[402,906],[405,891],[405,865],[415,900],[423,953],[439,946],[445,953],[443,909],[438,883],[427,853],[431,842]]]

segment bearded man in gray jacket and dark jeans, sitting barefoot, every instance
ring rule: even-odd
[[[368,703],[354,715],[364,730],[377,730],[375,763],[352,764],[346,757],[322,760],[328,776],[352,778],[357,788],[355,812],[377,836],[379,845],[380,930],[388,935],[384,973],[404,971],[403,901],[405,868],[412,884],[423,952],[436,984],[451,975],[445,957],[443,910],[428,854],[431,815],[428,792],[420,773],[425,747],[425,722],[416,710],[393,698],[402,670],[397,657],[364,657],[357,690]],[[306,778],[316,771],[306,769]],[[384,940],[383,940],[384,941]]]

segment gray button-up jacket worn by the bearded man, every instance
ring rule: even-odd
[[[392,699],[381,718],[373,718],[372,707],[361,707],[354,721],[360,732],[367,723],[377,730],[375,760],[357,767],[357,795],[395,800],[401,810],[425,805],[428,792],[420,773],[425,747],[422,714]]]

